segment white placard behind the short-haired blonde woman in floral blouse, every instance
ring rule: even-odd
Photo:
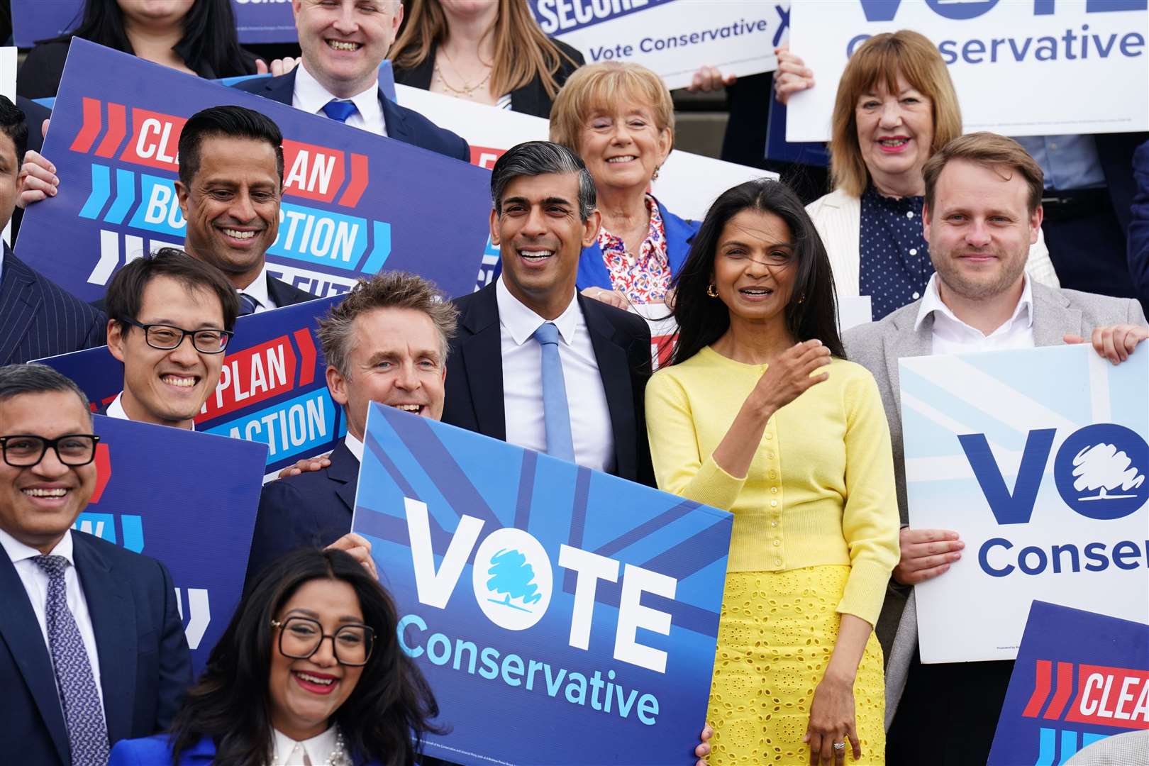
[[[395,94],[404,107],[466,139],[471,145],[471,162],[483,168],[493,167],[516,144],[545,141],[550,134],[549,123],[541,117],[406,85],[396,85]],[[778,178],[778,175],[676,149],[658,172],[651,192],[680,218],[701,219],[715,198],[755,178]]]

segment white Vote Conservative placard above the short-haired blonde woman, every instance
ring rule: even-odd
[[[789,0],[530,0],[542,31],[586,62],[630,61],[673,90],[700,67],[724,75],[773,71]]]

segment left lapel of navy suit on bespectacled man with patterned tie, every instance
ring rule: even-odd
[[[0,639],[8,644],[24,683],[32,693],[40,718],[56,746],[56,755],[61,763],[70,763],[68,728],[60,709],[48,648],[32,604],[28,601],[24,583],[7,555],[0,555]]]

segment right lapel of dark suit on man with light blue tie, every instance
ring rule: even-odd
[[[615,435],[615,472],[633,477],[638,471],[638,455],[634,454],[634,404],[631,390],[631,364],[626,349],[615,341],[615,325],[601,310],[601,304],[578,295],[579,308],[591,334],[591,346],[599,364],[599,377],[607,394],[610,410],[610,426]],[[645,434],[643,434],[645,436]]]

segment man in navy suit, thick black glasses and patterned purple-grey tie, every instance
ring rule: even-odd
[[[171,577],[71,529],[97,482],[72,381],[0,369],[0,751],[21,766],[102,765],[115,742],[165,729],[192,681]]]

